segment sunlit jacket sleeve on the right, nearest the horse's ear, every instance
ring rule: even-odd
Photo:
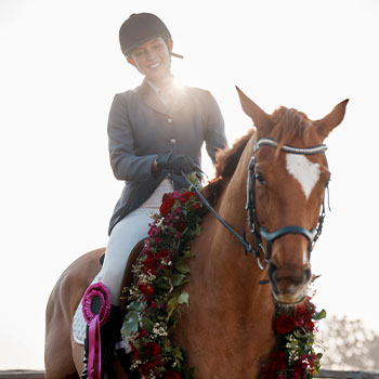
[[[215,154],[220,148],[224,148],[227,145],[225,136],[224,119],[221,115],[220,107],[214,97],[209,91],[207,104],[208,104],[208,119],[206,128],[206,148],[208,155],[215,162]]]

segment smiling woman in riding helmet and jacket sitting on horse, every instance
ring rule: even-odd
[[[151,214],[158,211],[162,195],[186,186],[181,172],[200,167],[202,143],[213,162],[217,151],[226,145],[212,95],[175,86],[171,56],[181,55],[172,52],[170,31],[157,16],[132,14],[122,24],[119,40],[128,63],[144,81],[116,94],[108,120],[110,165],[126,185],[110,220],[102,273],[112,299],[110,316],[101,331],[105,368],[122,322],[119,296],[131,249],[147,236]]]

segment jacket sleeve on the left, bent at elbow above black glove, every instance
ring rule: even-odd
[[[133,130],[130,125],[127,97],[116,94],[108,118],[108,149],[110,166],[118,180],[139,181],[151,178],[156,155],[134,154]]]

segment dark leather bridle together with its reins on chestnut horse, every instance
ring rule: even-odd
[[[324,196],[323,196],[323,204],[322,204],[322,211],[318,217],[318,223],[315,227],[312,230],[306,230],[303,226],[298,225],[288,225],[280,227],[274,232],[267,232],[264,227],[262,227],[259,223],[258,217],[257,217],[257,206],[256,206],[256,180],[258,179],[258,173],[256,173],[256,164],[257,158],[256,154],[262,146],[270,146],[273,148],[277,148],[278,144],[271,140],[271,139],[260,139],[256,142],[253,147],[253,154],[250,159],[249,166],[248,166],[248,178],[247,178],[247,202],[246,202],[246,210],[248,213],[248,222],[249,222],[249,228],[253,236],[254,246],[249,244],[246,240],[246,233],[243,232],[243,235],[238,234],[225,220],[221,218],[221,215],[214,210],[214,208],[209,204],[209,201],[205,198],[205,196],[200,193],[200,191],[197,188],[194,183],[192,183],[188,178],[182,172],[183,178],[186,180],[186,182],[192,186],[195,191],[195,193],[198,195],[200,200],[204,202],[206,208],[220,221],[220,223],[225,226],[243,245],[245,254],[252,253],[257,258],[258,266],[261,270],[264,270],[266,264],[271,260],[272,256],[272,244],[275,239],[286,235],[286,234],[302,234],[308,240],[308,253],[311,254],[311,251],[313,250],[313,247],[318,239],[319,235],[323,231],[323,224],[325,219],[325,190],[328,190],[328,183],[324,187]],[[327,151],[327,146],[325,144],[319,144],[312,147],[293,147],[288,145],[283,145],[280,147],[280,151],[284,153],[289,154],[298,154],[298,155],[315,155],[321,154]],[[266,251],[262,244],[262,238],[264,238],[266,243]],[[263,256],[264,258],[264,264],[261,263],[260,256]],[[262,284],[266,283],[267,280],[262,280]]]

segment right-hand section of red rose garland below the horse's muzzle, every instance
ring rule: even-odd
[[[262,379],[310,379],[318,374],[322,353],[316,353],[316,323],[326,312],[316,312],[316,306],[308,297],[293,306],[276,306],[274,330],[276,349],[270,362],[262,367]]]

